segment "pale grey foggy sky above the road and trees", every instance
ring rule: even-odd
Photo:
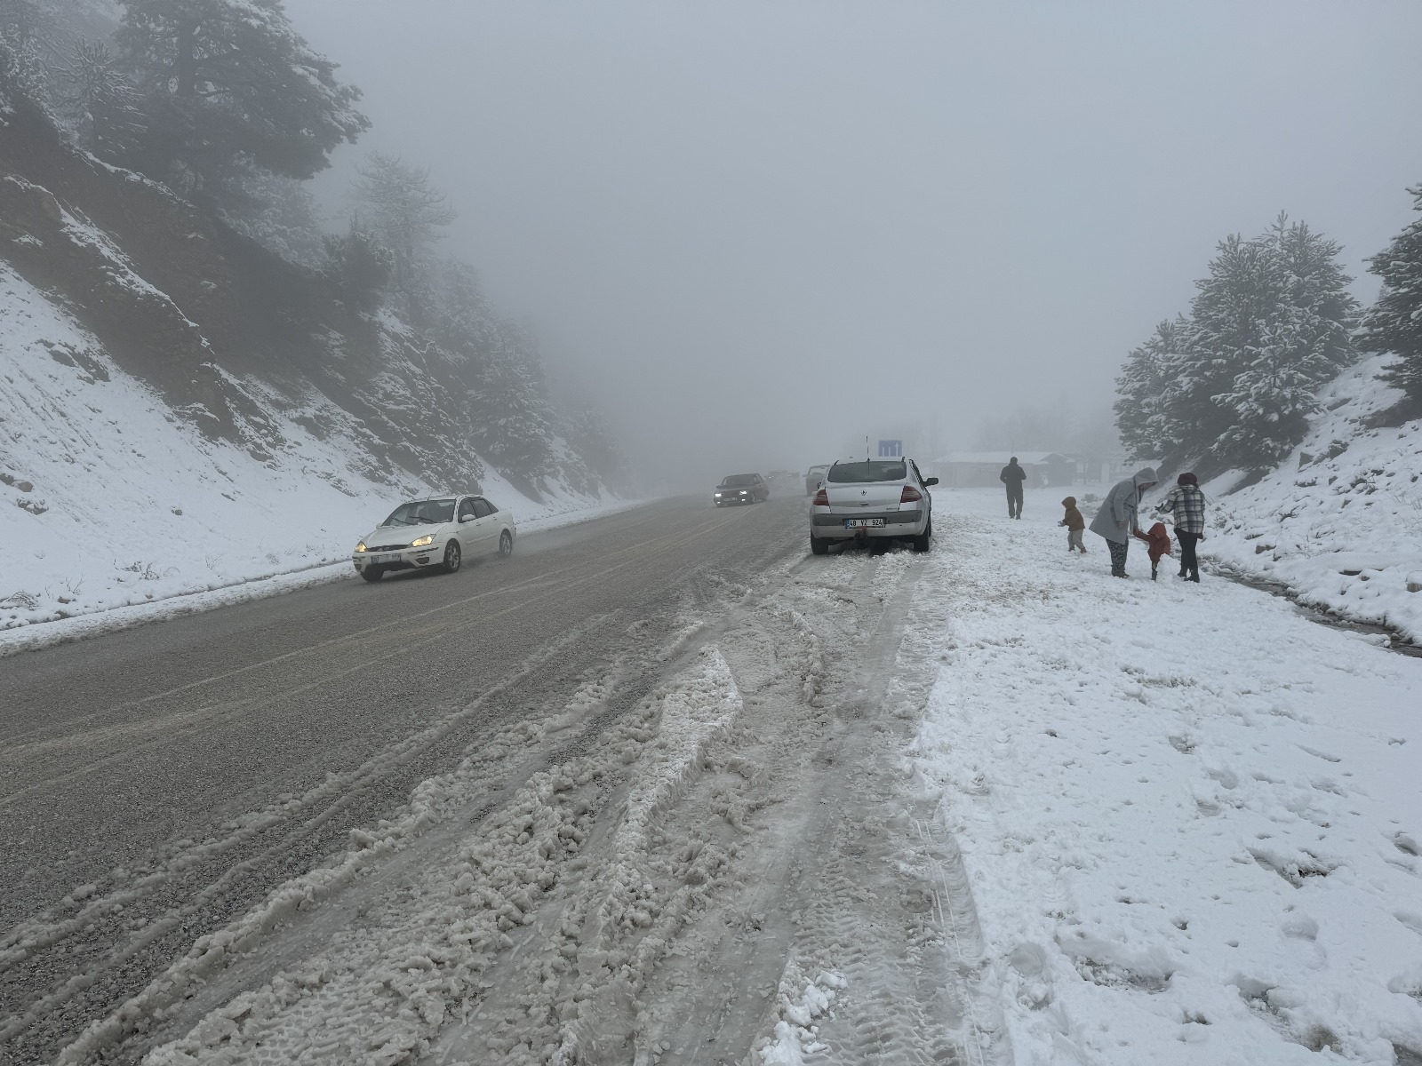
[[[1422,4],[287,0],[448,249],[650,469],[1103,416],[1214,243],[1362,260],[1422,182]],[[930,458],[924,455],[923,458]]]

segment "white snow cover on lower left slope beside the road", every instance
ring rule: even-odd
[[[346,412],[252,378],[225,384],[267,451],[206,436],[3,262],[0,382],[0,630],[346,560],[401,496],[465,488],[377,468]],[[523,526],[606,502],[545,482],[535,503],[479,465]]]

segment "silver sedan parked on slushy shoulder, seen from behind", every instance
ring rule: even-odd
[[[919,473],[913,459],[835,463],[809,507],[809,550],[829,551],[836,540],[907,540],[927,551],[933,537],[937,478]]]

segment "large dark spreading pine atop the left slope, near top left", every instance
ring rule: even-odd
[[[370,119],[360,91],[301,38],[280,0],[122,0],[115,34],[146,128],[122,162],[220,198],[233,162],[310,178]]]

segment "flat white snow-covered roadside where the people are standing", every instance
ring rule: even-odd
[[[1044,493],[1021,522],[998,492],[936,505],[953,610],[913,760],[1015,1062],[1422,1053],[1422,662],[1150,583],[1140,551],[1113,580]]]

